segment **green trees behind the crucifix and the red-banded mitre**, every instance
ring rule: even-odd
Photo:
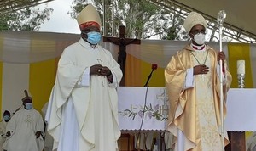
[[[118,33],[119,25],[125,25],[126,37],[148,39],[154,36],[168,40],[181,40],[185,37],[182,35],[183,32],[178,32],[181,29],[183,19],[178,18],[177,15],[172,15],[168,10],[145,0],[113,0],[112,12],[111,2],[111,0],[105,1],[107,6],[105,16],[108,19],[113,17],[113,36],[118,36],[116,33]],[[87,0],[73,0],[72,11],[69,14],[75,18],[86,3]],[[94,3],[103,16],[102,0],[95,0]],[[111,36],[111,23],[107,22],[106,27],[108,30],[105,35]],[[176,38],[170,38],[171,36]]]

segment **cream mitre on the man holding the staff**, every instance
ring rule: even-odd
[[[205,18],[196,12],[191,12],[184,20],[183,27],[189,33],[195,25],[203,25],[207,29],[207,21]]]

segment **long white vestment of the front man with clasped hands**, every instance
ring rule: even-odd
[[[90,76],[90,66],[102,64],[113,74]],[[58,151],[116,151],[120,137],[116,88],[122,78],[112,54],[79,42],[67,47],[58,64],[46,114],[48,132]]]

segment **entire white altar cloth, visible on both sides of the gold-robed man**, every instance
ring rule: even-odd
[[[119,87],[118,95],[120,130],[166,130],[166,87],[148,87],[148,92],[147,87]],[[224,127],[228,131],[256,131],[256,89],[230,89]]]

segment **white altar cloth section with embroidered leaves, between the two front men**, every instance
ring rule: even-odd
[[[149,87],[148,92],[147,87],[119,87],[118,95],[121,130],[166,130],[168,102],[165,96],[165,87]],[[145,98],[147,98],[147,103],[143,116]],[[143,125],[141,126],[142,120]]]

